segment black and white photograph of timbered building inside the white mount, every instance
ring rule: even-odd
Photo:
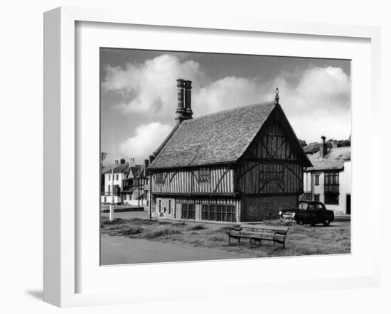
[[[102,265],[350,254],[350,60],[100,48]]]

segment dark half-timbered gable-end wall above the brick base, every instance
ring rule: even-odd
[[[303,168],[296,150],[297,146],[275,120],[255,139],[237,166],[237,192],[245,195],[302,193]]]

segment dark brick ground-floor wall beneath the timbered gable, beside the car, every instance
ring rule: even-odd
[[[296,196],[245,197],[244,221],[276,219],[280,210],[294,208]]]

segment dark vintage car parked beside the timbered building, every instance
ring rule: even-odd
[[[303,200],[299,207],[279,212],[281,220],[296,221],[299,224],[323,224],[328,226],[334,220],[334,212],[326,210],[323,202]]]

